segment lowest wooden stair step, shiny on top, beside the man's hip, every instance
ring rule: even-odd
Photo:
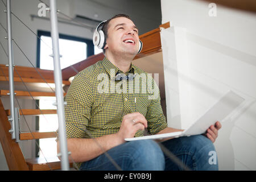
[[[26,159],[28,168],[31,171],[49,171],[61,169],[61,162],[59,158],[35,158],[35,159]],[[73,167],[72,163],[69,163],[69,167]]]

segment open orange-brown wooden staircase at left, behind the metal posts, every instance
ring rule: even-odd
[[[2,98],[9,98],[9,77],[8,67],[0,64],[0,140],[6,161],[10,170],[56,170],[60,169],[60,160],[53,158],[24,159],[19,144],[11,139],[9,130],[11,128],[8,116],[10,109],[4,108]],[[42,78],[43,77],[43,78]],[[47,82],[47,83],[46,83]],[[15,66],[14,85],[15,97],[17,100],[39,100],[40,98],[55,97],[53,71]],[[24,84],[26,86],[24,86]],[[63,81],[63,86],[69,86],[68,80]],[[30,91],[33,90],[33,91]],[[36,91],[34,91],[36,90]],[[40,90],[40,91],[37,91]],[[65,96],[65,93],[63,93]],[[54,109],[23,109],[19,110],[20,115],[57,114]],[[56,132],[20,131],[20,140],[36,140],[43,138],[56,138]],[[72,163],[70,164],[72,167]]]

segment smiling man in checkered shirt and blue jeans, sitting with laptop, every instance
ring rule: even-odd
[[[129,84],[133,79],[126,80],[126,76],[146,73],[131,64],[139,49],[138,28],[133,21],[127,15],[115,15],[104,23],[102,31],[106,40],[104,60],[78,73],[65,96],[69,160],[74,160],[81,170],[184,169],[164,154],[154,140],[125,142],[125,138],[142,136],[144,129],[150,134],[181,130],[167,127],[160,94],[150,98],[152,92],[125,92],[136,88],[136,84],[135,88]],[[128,82],[127,88],[119,84],[121,79],[115,79],[118,73],[125,74],[122,78]],[[139,88],[150,88],[148,85],[150,82],[139,82]],[[159,93],[154,80],[152,87]],[[123,92],[117,92],[117,88]],[[218,164],[209,164],[208,154],[215,151],[213,142],[220,128],[220,122],[216,122],[204,136],[166,139],[161,146],[189,169],[216,170]],[[57,148],[59,151],[58,142]]]

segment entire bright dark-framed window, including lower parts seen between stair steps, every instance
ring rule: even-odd
[[[53,70],[53,58],[49,55],[52,54],[52,39],[50,32],[38,31],[38,49],[37,49],[37,67],[40,69]],[[60,67],[61,69],[69,67],[72,64],[76,64],[86,57],[94,54],[94,49],[97,53],[100,53],[101,49],[93,46],[92,40],[77,38],[75,36],[59,35],[59,49],[60,55]],[[47,100],[37,101],[40,109],[56,109],[53,105],[56,98],[47,98]],[[36,118],[38,121],[36,130],[40,132],[56,131],[58,129],[58,118],[56,114],[51,115],[39,115]],[[36,146],[36,156],[39,158],[54,157],[57,154],[56,138],[39,139],[39,147]]]

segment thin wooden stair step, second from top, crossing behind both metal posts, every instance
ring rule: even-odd
[[[6,80],[7,79],[7,80]],[[40,82],[40,83],[45,83],[45,81],[47,83],[54,83],[54,80],[50,80],[50,79],[42,79],[42,78],[24,78],[22,77],[22,80],[20,79],[20,77],[14,77],[13,78],[14,82]],[[0,76],[0,81],[9,81],[9,77],[5,77],[5,76]],[[68,80],[63,80],[63,84],[64,85],[70,85],[70,82]]]

